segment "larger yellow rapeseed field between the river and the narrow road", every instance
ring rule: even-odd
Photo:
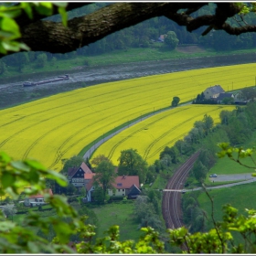
[[[0,150],[59,171],[62,159],[78,155],[114,127],[169,106],[174,96],[184,102],[215,84],[226,91],[251,86],[255,69],[245,64],[109,82],[5,109]]]

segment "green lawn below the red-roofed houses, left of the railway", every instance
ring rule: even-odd
[[[100,223],[98,238],[103,237],[104,231],[113,225],[119,226],[121,240],[138,240],[143,234],[138,229],[138,223],[133,220],[133,202],[106,204],[92,209]]]

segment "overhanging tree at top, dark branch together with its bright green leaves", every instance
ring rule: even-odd
[[[202,36],[207,35],[213,29],[214,31],[223,30],[230,35],[256,31],[255,25],[243,22],[244,16],[249,16],[248,14],[254,12],[254,3],[217,2],[214,7],[210,6],[213,11],[210,15],[199,15],[204,14],[200,12],[202,9],[209,7],[205,2],[114,3],[87,16],[71,18],[67,22],[64,8],[66,7],[69,11],[84,5],[91,5],[91,3],[54,3],[54,5],[21,3],[5,7],[2,12],[7,12],[6,8],[8,8],[12,16],[5,17],[5,23],[0,28],[13,37],[6,34],[5,44],[1,45],[1,52],[27,50],[27,47],[33,51],[71,52],[111,35],[113,32],[156,16],[165,16],[179,26],[187,27],[189,32],[203,27]],[[58,13],[62,16],[63,24],[43,19]],[[233,16],[242,16],[242,21],[235,19],[237,23],[230,24],[228,18]],[[5,26],[5,24],[8,25]],[[110,24],[112,26],[109,26]]]

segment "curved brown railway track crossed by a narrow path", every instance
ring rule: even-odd
[[[184,226],[182,222],[181,191],[184,188],[187,175],[199,154],[200,151],[197,151],[197,153],[191,155],[187,161],[176,170],[176,173],[169,179],[164,189],[162,212],[167,229],[177,229]]]

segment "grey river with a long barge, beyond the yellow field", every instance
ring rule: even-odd
[[[9,107],[25,101],[37,100],[63,91],[71,91],[114,80],[128,80],[155,74],[165,74],[189,69],[206,69],[219,66],[253,63],[256,53],[234,54],[217,57],[165,59],[109,65],[101,67],[77,67],[69,71],[21,75],[20,77],[0,79],[0,108]],[[68,73],[70,79],[55,83],[24,88],[25,80],[48,80],[59,74]]]

